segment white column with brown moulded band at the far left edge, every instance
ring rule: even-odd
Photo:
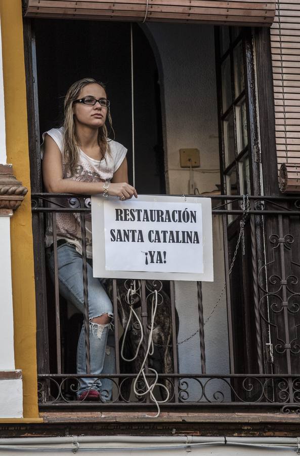
[[[0,24],[1,30],[1,24]],[[1,36],[1,34],[0,34]],[[15,369],[10,218],[27,190],[7,165],[2,40],[0,39],[0,418],[23,416],[21,370]]]

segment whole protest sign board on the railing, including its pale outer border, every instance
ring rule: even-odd
[[[208,198],[93,197],[92,230],[95,277],[213,280]]]

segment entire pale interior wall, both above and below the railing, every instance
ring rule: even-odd
[[[170,194],[187,194],[189,171],[180,168],[179,149],[200,150],[200,169],[194,174],[199,192],[210,192],[220,182],[215,44],[213,26],[194,24],[147,23],[150,43],[160,70],[166,178]],[[153,43],[152,43],[153,44]],[[157,47],[155,51],[155,47]],[[160,60],[160,62],[159,62]],[[211,170],[203,172],[202,170]],[[213,217],[213,283],[203,283],[204,321],[225,283],[222,224]],[[176,283],[176,306],[180,317],[178,340],[197,330],[197,288],[193,282]],[[199,336],[179,346],[180,371],[201,372]],[[225,296],[205,325],[207,373],[228,373],[228,335]],[[214,382],[207,392],[228,391]],[[190,398],[199,398],[200,389],[190,382]]]

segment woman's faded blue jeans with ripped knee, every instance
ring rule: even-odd
[[[68,301],[83,313],[83,280],[82,256],[72,244],[66,243],[58,246],[58,278],[59,292]],[[54,253],[50,248],[46,251],[48,267],[54,281]],[[89,292],[89,318],[90,318],[90,364],[91,373],[111,374],[115,372],[115,352],[113,347],[112,331],[110,324],[99,325],[91,320],[95,317],[108,314],[113,318],[112,303],[102,285],[103,279],[93,277],[90,264],[88,267],[88,292]],[[110,336],[109,336],[109,333]],[[107,345],[107,339],[109,341]],[[111,341],[111,342],[110,342]],[[85,334],[82,325],[77,345],[77,373],[87,373],[85,362]],[[111,399],[112,381],[109,379],[80,378],[77,396],[83,391],[93,389],[101,394],[101,400]]]

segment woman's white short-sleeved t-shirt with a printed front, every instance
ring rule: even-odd
[[[44,143],[45,135],[48,134],[58,145],[61,153],[63,151],[63,127],[52,128],[51,130],[42,134]],[[110,181],[114,172],[119,168],[123,162],[127,149],[119,142],[109,140],[110,154],[106,154],[105,159],[99,161],[92,159],[84,154],[79,149],[78,164],[73,176],[68,175],[63,164],[63,176],[71,180],[82,180],[84,182],[105,182]],[[43,144],[41,145],[41,158],[44,153]],[[63,204],[67,207],[72,207],[70,203],[76,204],[76,198],[67,200],[56,199],[52,200],[52,207],[55,203]],[[59,206],[57,206],[59,207]],[[65,239],[66,241],[74,244],[76,250],[81,254],[81,226],[80,226],[80,213],[76,212],[57,212],[56,213],[56,226],[57,226],[57,239]],[[85,213],[85,230],[87,240],[87,257],[92,258],[92,221],[91,213]],[[45,235],[46,247],[53,243],[53,226],[51,215],[47,217],[47,229]]]

